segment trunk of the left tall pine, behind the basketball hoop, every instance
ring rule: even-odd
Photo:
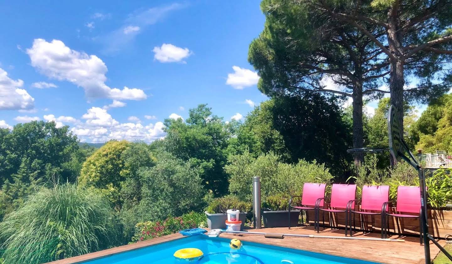
[[[363,148],[363,83],[357,82],[353,87],[353,148]],[[364,153],[354,153],[355,167],[364,162]]]

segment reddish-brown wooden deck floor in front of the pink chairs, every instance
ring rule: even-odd
[[[322,227],[320,227],[321,229]],[[285,233],[285,234],[303,234],[317,235],[313,227],[287,227],[262,228],[259,230],[249,230],[250,232],[266,232],[266,233]],[[344,236],[343,229],[325,229],[320,231],[318,235],[324,236]],[[378,233],[358,232],[353,236],[356,237],[380,237]],[[221,234],[224,238],[238,238],[241,241],[257,242],[268,245],[279,245],[283,247],[314,251],[329,255],[337,255],[354,259],[362,259],[367,261],[375,261],[378,263],[396,263],[396,264],[423,264],[424,263],[424,247],[419,245],[419,237],[413,236],[391,236],[390,238],[405,239],[405,242],[387,242],[387,241],[361,241],[361,240],[339,240],[324,238],[299,238],[284,237],[283,239],[265,238],[256,235],[239,235],[239,234]],[[445,241],[439,241],[441,245]],[[439,249],[430,243],[431,258],[438,254]]]

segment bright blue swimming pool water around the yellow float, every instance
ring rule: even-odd
[[[358,259],[294,250],[273,245],[243,242],[240,250],[229,247],[228,239],[211,238],[204,235],[184,237],[178,240],[151,245],[85,264],[375,264]],[[320,246],[320,245],[319,245]],[[173,254],[182,248],[194,247],[202,250],[202,259],[187,262],[177,260]],[[346,249],[344,249],[346,250]]]

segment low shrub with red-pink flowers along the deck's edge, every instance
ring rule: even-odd
[[[206,225],[206,215],[204,213],[195,212],[186,213],[181,217],[166,218],[165,221],[138,222],[136,225],[136,233],[132,237],[132,243],[174,234],[185,229],[195,227],[202,228]]]

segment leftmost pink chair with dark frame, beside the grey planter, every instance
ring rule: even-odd
[[[289,229],[290,229],[290,209],[296,208],[301,211],[301,224],[303,223],[303,210],[315,210],[317,200],[325,198],[325,183],[305,183],[303,185],[303,195],[291,196],[289,200]],[[292,199],[301,197],[301,206],[292,206]],[[323,200],[319,201],[323,206]]]

